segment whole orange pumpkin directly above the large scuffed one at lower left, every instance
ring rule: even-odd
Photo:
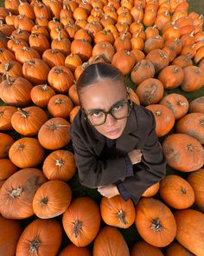
[[[45,150],[35,138],[23,137],[10,147],[9,156],[17,167],[38,166],[44,158]]]

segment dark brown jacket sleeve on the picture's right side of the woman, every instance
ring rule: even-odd
[[[123,191],[126,191],[126,194],[123,193],[124,196],[121,194],[124,200],[132,198],[135,204],[148,187],[162,180],[166,174],[166,160],[155,128],[156,122],[153,115],[152,128],[142,151],[142,161],[134,165],[134,176],[117,182],[118,188],[123,187]]]

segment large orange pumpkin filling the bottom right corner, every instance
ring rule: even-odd
[[[193,209],[178,210],[175,239],[195,255],[204,255],[204,214]]]

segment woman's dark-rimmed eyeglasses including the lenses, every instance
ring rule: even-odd
[[[86,111],[83,107],[81,108],[85,111],[85,120],[92,126],[99,126],[105,123],[108,114],[116,120],[126,118],[131,113],[132,102],[130,100],[117,102],[108,111],[100,108]]]

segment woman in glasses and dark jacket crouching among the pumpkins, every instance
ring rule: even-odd
[[[112,65],[91,64],[77,82],[80,111],[70,128],[80,183],[135,205],[166,172],[150,110],[129,100],[124,76]]]

